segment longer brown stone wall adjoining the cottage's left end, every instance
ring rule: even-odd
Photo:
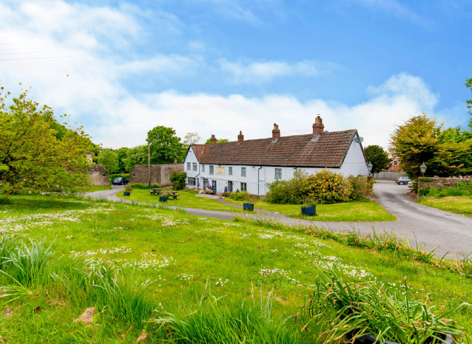
[[[184,164],[151,164],[151,185],[172,186],[170,175],[174,171],[184,172]],[[129,171],[129,184],[134,183],[148,185],[148,165],[134,165]]]

